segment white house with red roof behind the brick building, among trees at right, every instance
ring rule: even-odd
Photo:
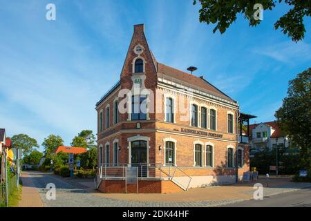
[[[272,150],[276,145],[288,148],[290,140],[284,135],[276,122],[263,122],[249,125],[250,143],[257,151],[267,147]]]

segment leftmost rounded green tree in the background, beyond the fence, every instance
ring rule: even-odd
[[[23,155],[29,155],[33,148],[38,148],[37,140],[26,134],[14,135],[11,138],[12,146],[23,148]]]

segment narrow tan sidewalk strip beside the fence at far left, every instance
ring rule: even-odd
[[[44,203],[31,177],[28,174],[21,173],[21,180],[23,182],[23,189],[19,207],[44,207]]]

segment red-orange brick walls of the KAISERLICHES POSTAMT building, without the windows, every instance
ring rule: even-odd
[[[143,52],[140,55],[135,53],[135,46],[142,46]],[[124,97],[118,97],[122,89],[132,90],[133,88],[133,66],[135,65],[135,59],[140,57],[144,61],[144,73],[142,75],[142,84],[145,88],[148,88],[153,93],[154,99],[150,99],[150,110],[154,106],[154,111],[150,111],[147,114],[146,120],[134,121],[131,120],[129,113],[118,113],[118,121],[114,124],[114,102],[122,102]],[[163,76],[160,73],[164,65],[158,64],[153,57],[151,50],[147,44],[146,37],[144,35],[144,26],[134,26],[134,34],[129,46],[129,51],[126,55],[126,60],[122,68],[120,75],[120,85],[113,90],[104,100],[97,104],[96,110],[98,113],[98,146],[99,146],[99,162],[102,165],[105,164],[105,148],[106,144],[109,147],[109,163],[116,163],[120,165],[131,164],[131,140],[139,140],[139,137],[143,137],[148,140],[148,159],[147,163],[150,165],[161,165],[162,170],[165,171],[165,142],[174,142],[174,151],[176,155],[175,166],[178,166],[182,171],[187,173],[191,177],[196,177],[194,186],[200,186],[200,178],[202,177],[202,184],[208,184],[209,181],[205,181],[205,177],[211,177],[216,182],[217,177],[234,177],[238,172],[238,175],[243,175],[243,171],[249,171],[249,149],[248,146],[238,145],[237,135],[237,117],[238,117],[238,104],[231,98],[226,97],[217,88],[206,83],[207,88],[205,92],[211,92],[211,95],[219,97],[219,99],[212,99],[211,97],[205,97],[200,94],[189,95],[184,92],[180,92],[173,87],[174,84],[164,84],[164,81],[159,81],[159,77]],[[166,66],[165,66],[166,67]],[[163,69],[164,70],[164,69]],[[173,68],[167,68],[167,75],[171,75],[169,71],[176,71],[176,76],[184,75],[188,79],[193,79],[193,82],[185,82],[194,84],[196,88],[196,81],[200,86],[205,85],[205,80],[195,76],[189,76],[187,73],[182,73],[180,70]],[[178,73],[177,73],[178,72]],[[165,73],[164,73],[165,74]],[[171,78],[173,79],[173,78]],[[178,80],[178,83],[182,79]],[[173,80],[171,80],[173,82]],[[177,82],[177,81],[176,81]],[[209,90],[209,88],[210,90]],[[201,87],[200,87],[201,88]],[[197,89],[197,88],[196,88]],[[204,88],[203,88],[204,89]],[[166,122],[165,120],[165,97],[171,97],[174,102],[174,122]],[[152,98],[152,97],[151,97]],[[222,98],[222,99],[220,99]],[[227,99],[229,102],[224,102]],[[185,102],[186,107],[183,109],[179,104]],[[119,103],[118,103],[119,104]],[[129,103],[130,104],[130,103]],[[129,104],[124,105],[125,108],[129,108]],[[190,126],[190,105],[198,105],[198,126]],[[109,106],[109,127],[106,128],[106,107]],[[214,109],[216,111],[216,131],[209,129],[210,123],[208,122],[207,128],[200,127],[200,107],[206,107],[209,111]],[[129,108],[130,109],[130,108]],[[129,110],[128,109],[128,110]],[[187,112],[185,113],[185,110]],[[100,113],[102,112],[102,128],[100,131]],[[209,113],[209,112],[208,112]],[[228,133],[228,114],[233,116],[233,133]],[[209,115],[207,117],[209,119]],[[137,128],[137,123],[140,122],[140,128]],[[137,138],[137,139],[136,139]],[[114,143],[117,142],[117,162],[114,162]],[[202,165],[194,166],[194,145],[202,144]],[[213,147],[213,165],[211,167],[206,166],[206,146]],[[239,146],[239,147],[238,147]],[[227,166],[227,148],[233,148],[234,150],[234,165]],[[243,149],[243,167],[236,170],[236,152],[237,149]],[[181,172],[176,173],[176,176],[184,176]],[[221,183],[221,182],[220,182]],[[100,190],[105,193],[124,192],[124,180],[105,180],[100,185]],[[135,191],[133,186],[128,186],[128,192]],[[169,180],[155,181],[140,180],[140,193],[170,193],[180,191],[180,188]]]

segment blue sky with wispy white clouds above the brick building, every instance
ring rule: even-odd
[[[48,3],[56,21],[46,20]],[[198,67],[257,123],[274,120],[288,81],[310,67],[310,19],[296,44],[273,28],[287,6],[265,11],[256,28],[239,17],[223,35],[200,23],[198,10],[192,0],[0,0],[0,127],[39,144],[95,132],[95,103],[119,79],[137,23],[158,61]]]

